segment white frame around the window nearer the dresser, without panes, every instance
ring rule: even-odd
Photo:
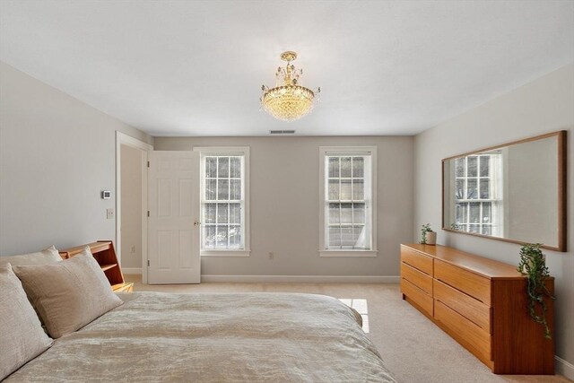
[[[371,248],[326,249],[326,156],[332,153],[370,155],[370,222]],[[320,257],[377,257],[377,146],[319,146],[319,256]]]

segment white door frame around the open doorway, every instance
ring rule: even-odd
[[[116,253],[117,262],[121,265],[121,147],[130,146],[142,151],[142,283],[147,283],[147,152],[153,150],[151,144],[116,131]]]

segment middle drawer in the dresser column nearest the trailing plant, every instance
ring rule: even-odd
[[[463,317],[469,319],[476,326],[483,328],[484,331],[491,334],[491,308],[486,306],[480,300],[466,295],[453,289],[448,284],[438,280],[433,280],[432,290],[434,299],[440,300],[450,309],[454,309]]]

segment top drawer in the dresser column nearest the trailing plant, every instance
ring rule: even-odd
[[[435,259],[434,277],[491,306],[491,280]]]

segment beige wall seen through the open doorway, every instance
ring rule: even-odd
[[[122,267],[142,267],[142,161],[143,152],[121,145]]]

